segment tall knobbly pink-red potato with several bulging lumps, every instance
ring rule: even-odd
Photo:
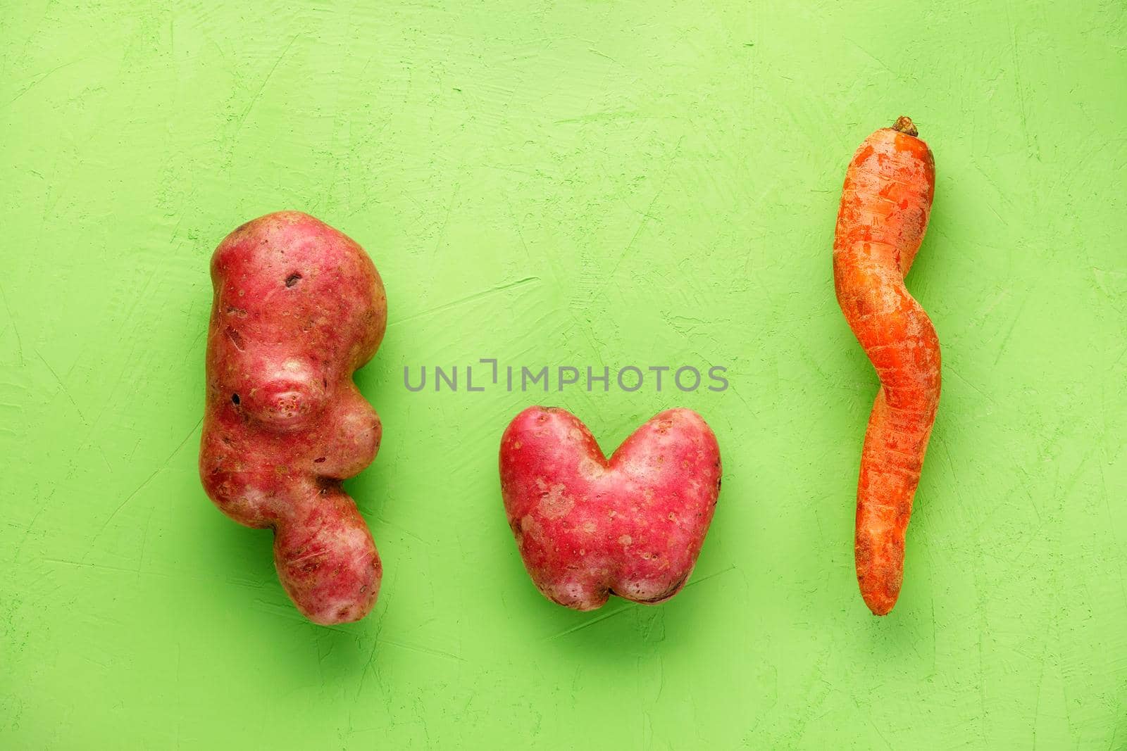
[[[383,283],[358,244],[300,212],[238,227],[211,276],[204,490],[239,524],[274,529],[278,579],[307,618],[358,620],[382,567],[340,481],[380,447],[353,373],[383,339]]]

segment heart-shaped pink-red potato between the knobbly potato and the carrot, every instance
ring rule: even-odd
[[[657,605],[685,585],[720,493],[720,448],[692,410],[660,412],[606,459],[587,427],[531,406],[500,441],[500,488],[524,566],[576,610]]]

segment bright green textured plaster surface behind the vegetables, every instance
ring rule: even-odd
[[[1127,748],[1121,3],[240,5],[0,11],[0,745]],[[908,286],[944,384],[876,619],[876,378],[829,249],[900,114],[938,163]],[[384,585],[338,628],[196,477],[207,260],[283,207],[390,299],[358,377],[385,442],[349,483]],[[547,400],[607,449],[667,405],[715,427],[672,602],[533,589],[496,450],[545,397],[402,386],[490,356],[730,368]]]

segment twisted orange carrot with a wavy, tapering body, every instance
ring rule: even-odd
[[[837,304],[880,377],[861,450],[854,557],[875,615],[896,605],[904,534],[939,405],[939,340],[904,287],[923,240],[935,163],[912,120],[866,138],[845,172],[834,238]]]

